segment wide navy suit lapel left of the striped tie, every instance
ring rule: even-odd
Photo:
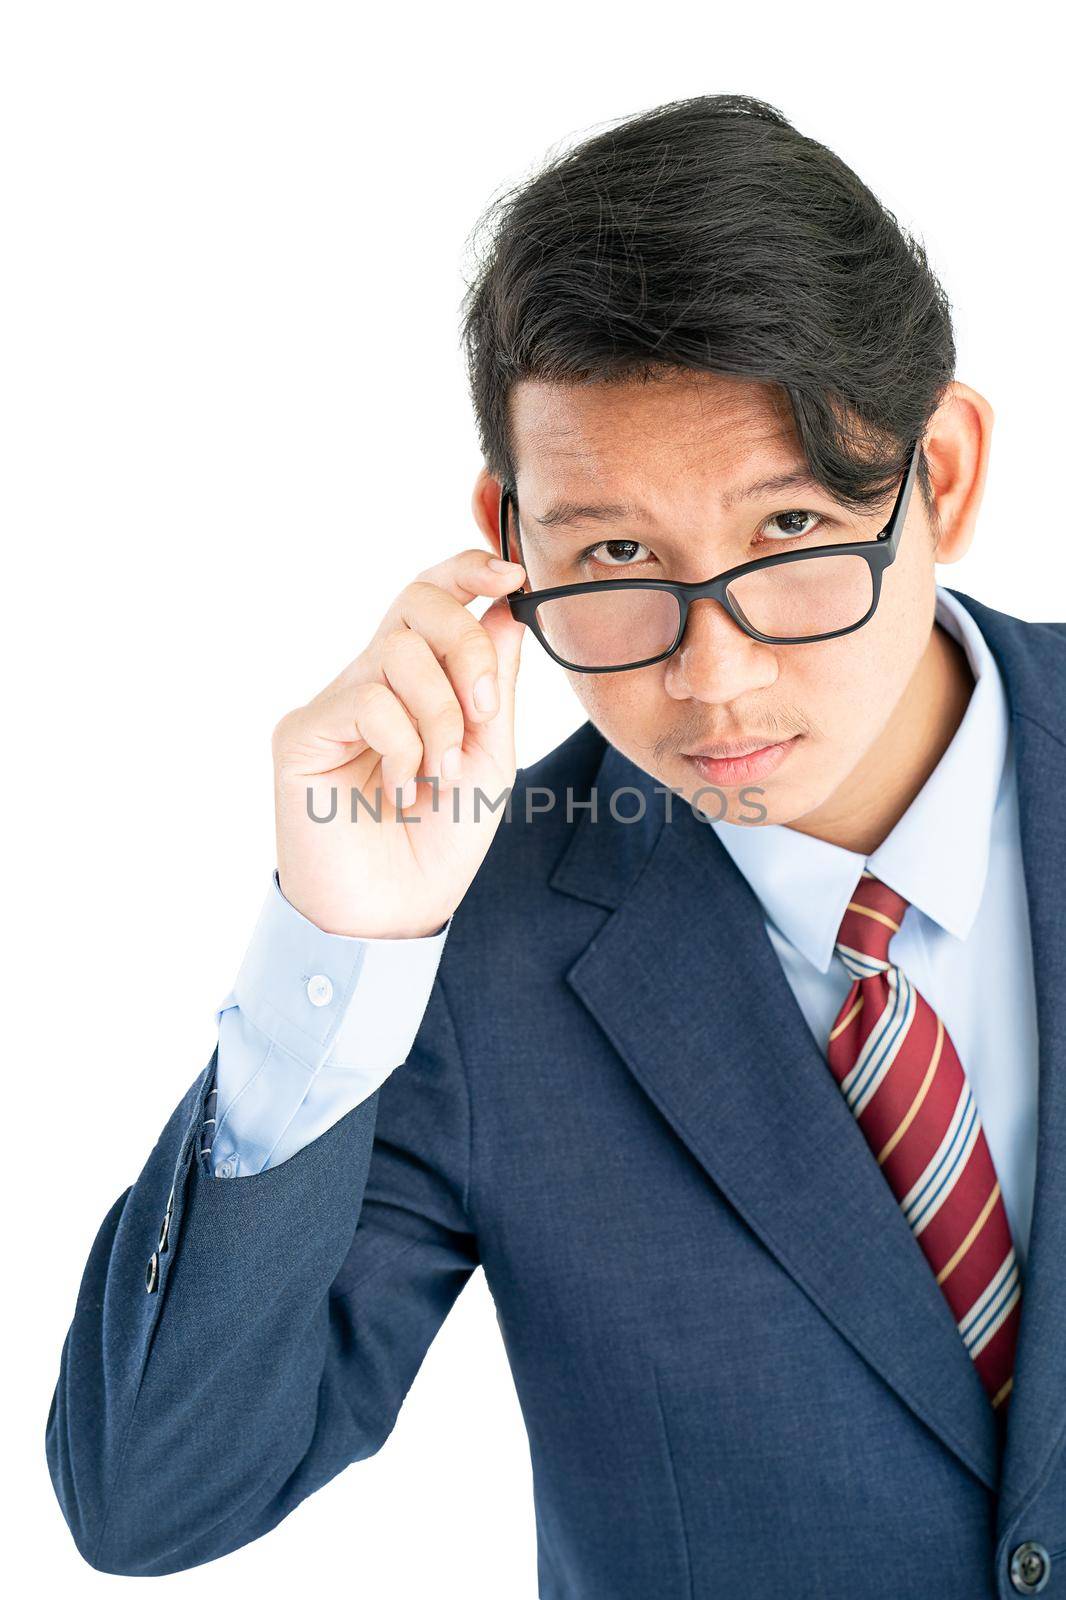
[[[687,802],[674,798],[664,821],[653,782],[607,746],[595,779],[600,814],[615,789],[632,786],[653,822],[639,835],[635,826],[586,822],[557,866],[552,888],[616,902],[567,981],[781,1267],[996,1488],[996,1427],[981,1381],[795,1003],[759,899]],[[627,834],[634,838],[623,842]]]

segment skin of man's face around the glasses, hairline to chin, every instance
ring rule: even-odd
[[[533,589],[595,578],[698,582],[791,549],[876,538],[895,501],[845,510],[816,485],[752,483],[805,472],[786,405],[768,386],[707,374],[653,382],[522,382],[511,397],[522,560]],[[551,507],[626,502],[632,515],[541,526]],[[642,515],[640,515],[642,514]],[[627,672],[570,672],[591,722],[709,818],[797,822],[828,805],[888,725],[927,650],[935,544],[911,496],[872,619],[840,638],[763,645],[715,600],[688,611],[679,650]],[[786,744],[747,765],[696,765],[706,744]],[[712,790],[698,797],[698,790]],[[765,816],[757,813],[765,808]]]

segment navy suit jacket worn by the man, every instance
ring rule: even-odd
[[[224,1182],[211,1058],[104,1218],[46,1429],[93,1566],[210,1562],[373,1456],[482,1266],[546,1600],[1010,1597],[1028,1539],[1066,1597],[1066,626],[959,598],[1010,698],[1040,1032],[1004,1458],[757,898],[584,723],[519,773],[407,1062]]]

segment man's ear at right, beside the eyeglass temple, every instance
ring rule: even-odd
[[[960,382],[948,386],[930,418],[924,450],[940,523],[936,562],[959,562],[973,542],[994,421],[984,395]]]

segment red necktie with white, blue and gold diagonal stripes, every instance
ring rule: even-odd
[[[1021,1278],[976,1101],[944,1024],[888,960],[909,901],[863,872],[837,954],[855,982],[829,1067],[936,1275],[1002,1427]]]

